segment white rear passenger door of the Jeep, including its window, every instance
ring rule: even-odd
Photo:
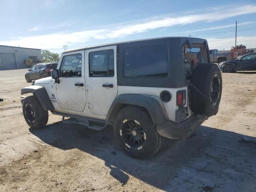
[[[117,95],[116,46],[86,50],[86,89],[92,114],[106,116]]]

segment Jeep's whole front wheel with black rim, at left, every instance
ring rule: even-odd
[[[48,111],[45,111],[35,96],[28,96],[22,104],[24,118],[31,128],[42,128],[48,122]]]

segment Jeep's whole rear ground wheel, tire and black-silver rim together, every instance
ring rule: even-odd
[[[147,159],[160,150],[160,136],[144,108],[129,106],[118,112],[114,122],[114,137],[132,158]]]

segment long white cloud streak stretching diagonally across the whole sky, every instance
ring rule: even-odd
[[[0,41],[0,44],[10,46],[24,46],[42,49],[61,48],[64,44],[75,45],[89,40],[102,40],[122,38],[131,34],[138,34],[157,28],[175,25],[192,24],[195,22],[217,21],[233,16],[256,13],[256,5],[240,6],[230,9],[214,9],[203,14],[185,14],[185,16],[165,17],[133,25],[119,26],[116,28],[101,27],[102,30],[85,30],[72,33],[54,33],[40,36],[18,37],[16,40]]]

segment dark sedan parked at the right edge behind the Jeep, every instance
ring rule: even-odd
[[[256,53],[249,53],[240,58],[224,61],[219,64],[223,72],[256,71]]]

